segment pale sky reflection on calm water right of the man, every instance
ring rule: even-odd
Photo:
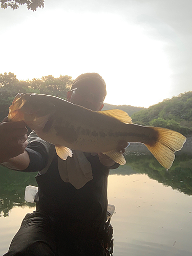
[[[114,256],[190,256],[192,197],[146,174],[111,175]]]

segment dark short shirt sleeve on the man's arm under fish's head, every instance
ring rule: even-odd
[[[34,132],[28,137],[26,151],[29,154],[29,166],[23,170],[25,173],[40,172],[44,169],[49,159],[50,145],[48,142],[40,139]]]

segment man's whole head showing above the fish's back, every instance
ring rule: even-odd
[[[67,100],[84,108],[99,111],[103,108],[105,96],[106,85],[102,77],[97,73],[87,73],[74,80]]]

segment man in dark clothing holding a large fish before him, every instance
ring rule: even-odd
[[[102,77],[87,73],[73,82],[67,100],[100,111],[105,96]],[[119,142],[119,151],[124,152],[126,146],[126,142]],[[78,157],[78,152],[74,155]],[[79,189],[63,175],[78,169],[76,158],[61,160],[54,145],[34,132],[25,151],[4,163],[23,172],[39,172],[36,211],[24,218],[5,255],[106,255],[103,228],[108,206],[107,180],[109,169],[119,165],[102,153],[84,153],[80,157],[91,164],[92,178]]]

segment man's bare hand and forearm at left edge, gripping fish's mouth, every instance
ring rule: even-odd
[[[0,163],[8,168],[23,170],[29,165],[27,128],[23,121],[0,123]]]

